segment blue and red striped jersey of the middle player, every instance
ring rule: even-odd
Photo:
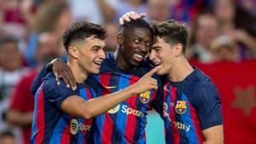
[[[124,71],[117,66],[113,54],[108,54],[103,61],[101,73],[98,76],[103,86],[108,89],[102,95],[124,89],[148,72],[152,66],[143,61],[137,70]],[[119,103],[95,118],[95,143],[146,143],[145,126],[147,110],[151,109],[156,93],[148,90],[139,95],[133,95],[127,101]]]

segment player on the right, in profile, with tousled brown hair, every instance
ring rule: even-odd
[[[156,111],[165,122],[166,143],[223,143],[218,89],[211,78],[185,58],[189,32],[175,20],[155,22],[150,60],[167,75],[159,89]]]

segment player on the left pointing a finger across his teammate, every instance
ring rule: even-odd
[[[157,89],[151,76],[157,68],[148,72],[137,83],[110,95],[101,95],[104,87],[91,74],[100,72],[105,59],[103,48],[106,32],[101,26],[77,22],[63,34],[67,50],[67,66],[74,74],[78,89],[56,84],[52,72],[44,78],[35,95],[32,123],[32,143],[91,143],[92,118],[109,110],[132,95],[148,89]]]

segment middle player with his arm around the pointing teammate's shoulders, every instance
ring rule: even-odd
[[[118,49],[114,54],[110,53],[106,56],[98,75],[101,83],[111,92],[125,89],[127,86],[136,83],[139,78],[153,68],[144,60],[153,43],[153,31],[147,21],[140,19],[125,22],[120,28],[117,40]],[[55,61],[53,69],[62,78],[67,76],[70,79],[74,74],[59,61]],[[32,91],[40,84],[39,79],[44,77],[45,73],[47,71],[43,70],[38,75]],[[58,80],[59,76],[56,78]],[[72,80],[67,84],[73,87]],[[102,95],[104,94],[102,90]],[[134,95],[108,112],[97,116],[95,118],[95,143],[146,143],[146,115],[147,110],[151,109],[150,104],[154,101],[155,95],[153,90]]]

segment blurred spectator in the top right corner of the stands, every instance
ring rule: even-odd
[[[256,57],[256,19],[233,0],[214,1],[220,31],[238,43],[241,60]]]

